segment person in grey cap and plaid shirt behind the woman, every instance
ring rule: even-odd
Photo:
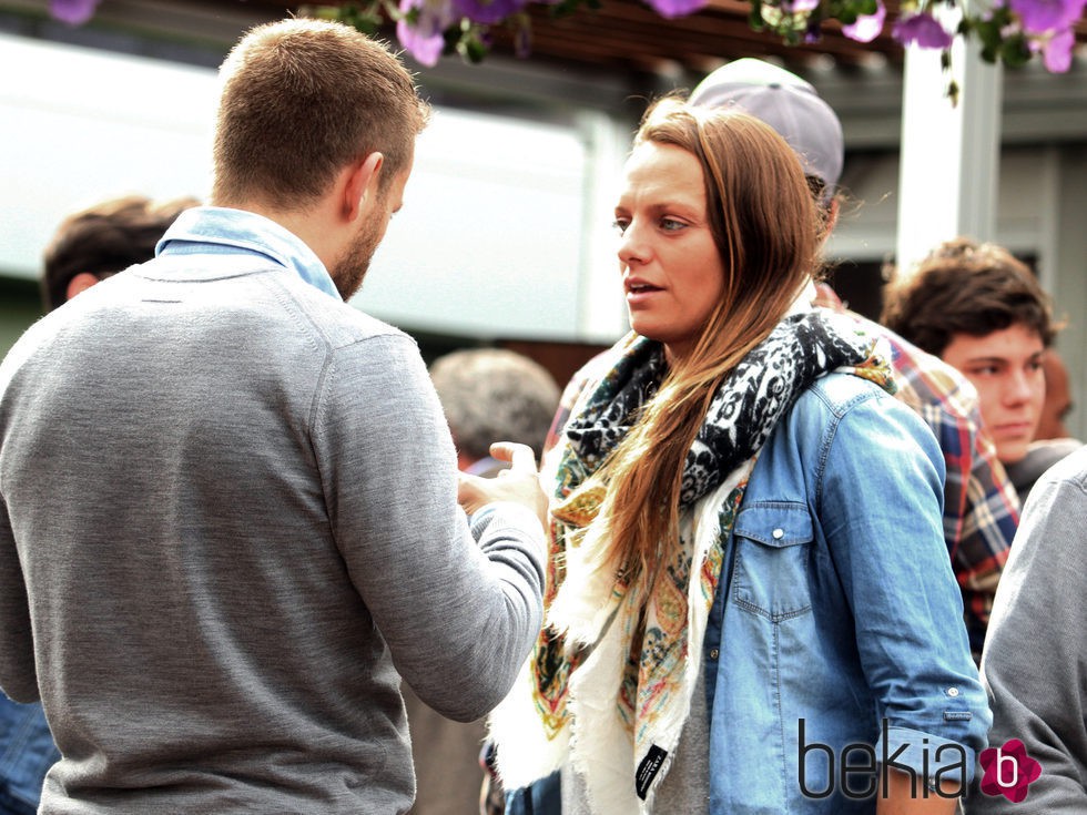
[[[830,234],[839,214],[835,193],[844,139],[837,115],[810,82],[769,62],[742,59],[708,75],[690,101],[704,108],[735,106],[776,130],[800,156]],[[963,591],[971,648],[977,658],[1018,526],[1019,501],[996,458],[996,448],[982,429],[973,386],[938,358],[883,326],[878,330],[893,349],[898,397],[928,424],[944,451],[944,539]]]

